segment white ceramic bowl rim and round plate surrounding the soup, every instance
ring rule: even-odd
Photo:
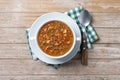
[[[62,56],[62,57],[50,57],[48,55],[45,55],[45,53],[39,48],[37,44],[37,34],[39,29],[44,25],[45,23],[49,21],[61,21],[67,24],[73,31],[74,33],[74,46],[72,47],[71,50],[69,50],[69,54]],[[43,62],[49,63],[49,64],[62,64],[70,59],[72,59],[77,52],[80,49],[80,44],[81,44],[81,32],[79,30],[78,25],[76,22],[67,16],[66,14],[59,13],[59,12],[52,12],[52,13],[47,13],[42,16],[40,16],[33,24],[30,29],[30,34],[29,34],[29,43],[32,49],[32,52]]]

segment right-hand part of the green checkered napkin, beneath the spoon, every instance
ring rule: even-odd
[[[92,25],[89,24],[86,29],[80,24],[79,22],[79,15],[81,13],[81,11],[83,10],[83,8],[81,6],[76,7],[72,10],[69,10],[68,12],[65,12],[65,14],[67,14],[68,16],[70,16],[72,19],[74,19],[76,21],[76,23],[78,24],[82,34],[83,33],[87,33],[86,37],[87,37],[87,48],[92,48],[91,43],[98,40],[98,36],[95,32],[95,30],[93,29]]]

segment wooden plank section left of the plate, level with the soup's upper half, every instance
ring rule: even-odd
[[[0,43],[27,43],[25,28],[0,28]]]

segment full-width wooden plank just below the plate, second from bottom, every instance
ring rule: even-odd
[[[41,61],[1,60],[0,76],[12,75],[119,75],[120,60],[89,59],[88,66],[81,65],[79,60],[63,64],[58,70],[46,66]]]

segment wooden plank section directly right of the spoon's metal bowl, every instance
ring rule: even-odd
[[[94,27],[118,27],[120,28],[119,13],[91,13]]]

